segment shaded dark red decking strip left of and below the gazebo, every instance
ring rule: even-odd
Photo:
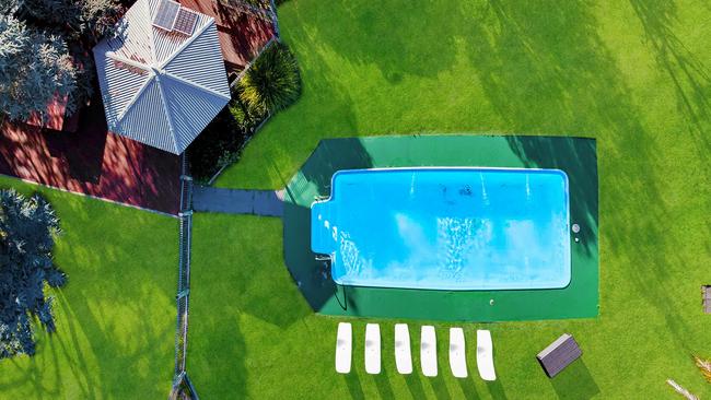
[[[179,160],[107,131],[98,93],[75,132],[0,123],[0,174],[166,213],[177,213]]]

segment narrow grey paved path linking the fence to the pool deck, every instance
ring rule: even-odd
[[[193,210],[281,216],[282,191],[223,189],[196,186],[193,192]]]

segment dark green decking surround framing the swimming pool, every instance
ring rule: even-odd
[[[324,315],[504,321],[598,314],[597,158],[594,139],[521,136],[399,136],[323,140],[284,192],[284,260]],[[571,283],[558,290],[431,291],[340,286],[311,251],[311,204],[340,169],[413,166],[551,168],[570,179]]]

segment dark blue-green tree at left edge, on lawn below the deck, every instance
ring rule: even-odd
[[[34,354],[33,318],[55,331],[45,283],[67,282],[51,255],[59,233],[59,220],[43,197],[0,190],[0,358]]]

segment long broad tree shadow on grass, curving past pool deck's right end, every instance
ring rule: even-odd
[[[605,227],[599,235],[604,246],[625,259],[633,287],[665,316],[684,349],[688,332],[667,289],[671,266],[685,260],[662,250],[680,245],[679,235],[665,232],[674,219],[665,205],[663,149],[598,35],[592,4],[548,3],[490,0],[467,36],[471,63],[494,110],[516,131],[595,132],[603,138]],[[537,151],[520,143],[515,148],[532,163],[543,162]],[[556,160],[552,153],[559,150],[544,155]]]

